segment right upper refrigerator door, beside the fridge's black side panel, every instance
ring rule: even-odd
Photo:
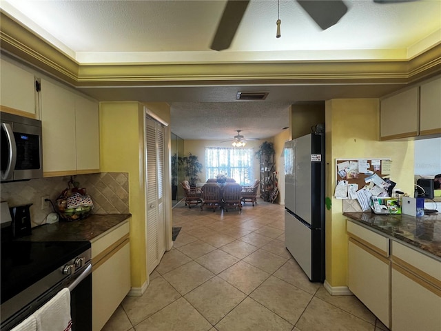
[[[296,139],[296,215],[311,224],[311,134]]]

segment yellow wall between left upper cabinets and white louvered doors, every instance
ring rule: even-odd
[[[132,287],[141,288],[147,279],[142,106],[100,103],[100,143],[101,171],[129,173],[131,281]]]

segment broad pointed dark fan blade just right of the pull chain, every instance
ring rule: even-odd
[[[347,6],[341,0],[297,0],[297,2],[322,30],[334,26],[347,12]]]

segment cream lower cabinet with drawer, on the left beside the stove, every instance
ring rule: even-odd
[[[92,241],[92,330],[100,331],[130,291],[129,221]]]

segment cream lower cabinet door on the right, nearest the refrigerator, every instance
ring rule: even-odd
[[[386,326],[390,319],[389,265],[387,258],[349,238],[349,290]]]

